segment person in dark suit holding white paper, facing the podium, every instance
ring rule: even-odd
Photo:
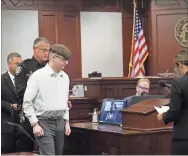
[[[175,57],[180,78],[172,82],[170,108],[158,114],[165,124],[174,122],[172,131],[172,154],[188,155],[188,49]]]

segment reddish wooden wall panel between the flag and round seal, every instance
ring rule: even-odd
[[[176,41],[174,29],[177,22],[186,16],[188,16],[188,9],[151,10],[152,55],[149,56],[149,63],[152,67],[149,69],[150,75],[166,72],[174,67],[174,56],[185,48]]]

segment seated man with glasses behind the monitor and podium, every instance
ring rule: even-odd
[[[125,98],[127,100],[128,106],[130,101],[132,100],[132,97],[148,95],[149,89],[150,89],[150,80],[146,78],[139,79],[136,84],[136,94]]]

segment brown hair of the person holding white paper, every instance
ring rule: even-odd
[[[178,66],[179,63],[188,66],[188,49],[181,50],[175,56],[175,63],[176,63],[177,66]]]

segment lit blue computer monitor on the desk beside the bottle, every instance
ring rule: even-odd
[[[127,100],[103,100],[99,123],[121,125],[121,110],[127,107]]]

